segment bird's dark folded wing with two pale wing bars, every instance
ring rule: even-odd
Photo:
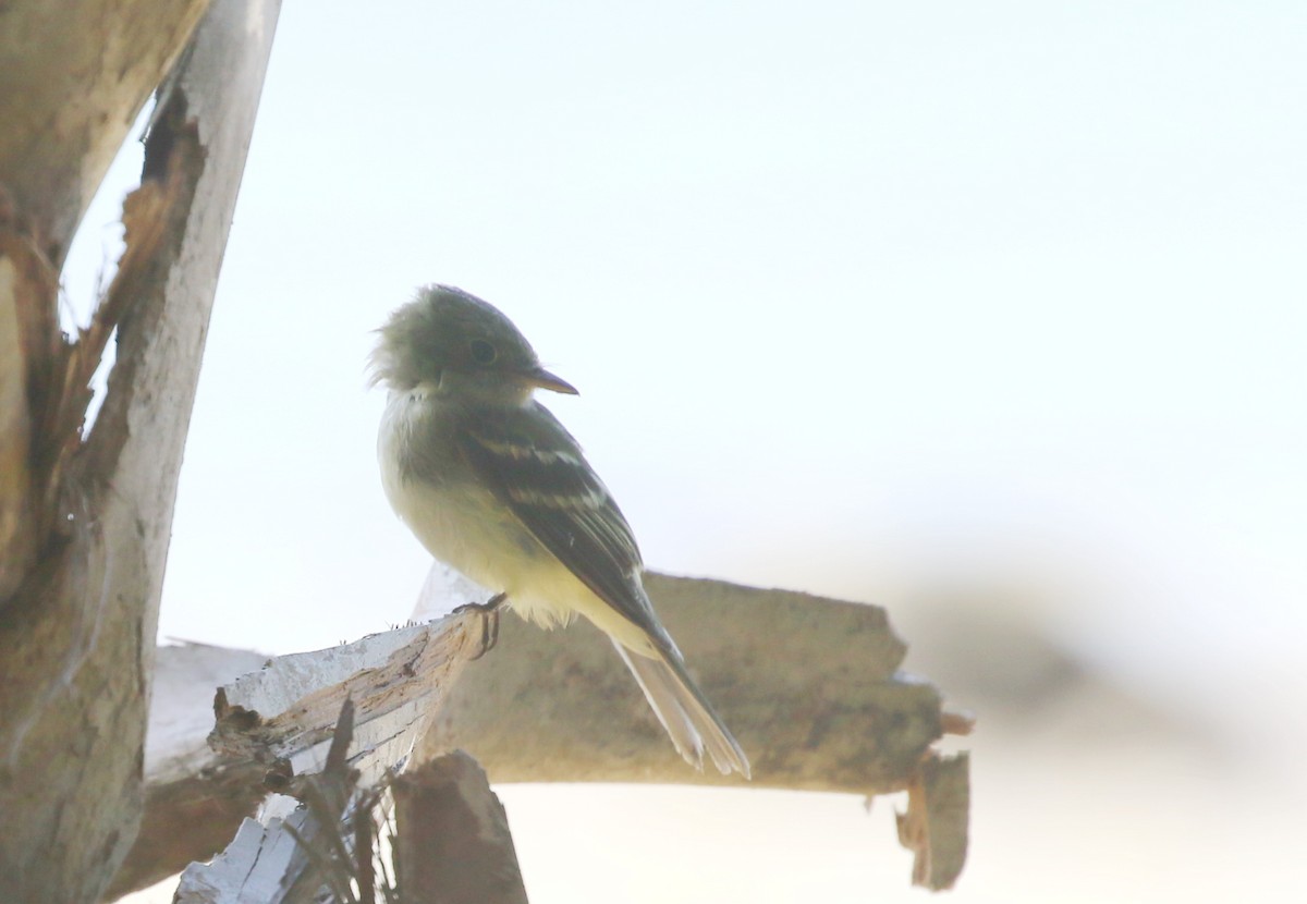
[[[631,528],[558,419],[537,402],[478,412],[459,442],[481,479],[545,549],[661,645],[667,632],[642,590]]]

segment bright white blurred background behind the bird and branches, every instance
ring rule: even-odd
[[[365,359],[448,282],[650,567],[882,605],[976,713],[951,899],[1302,900],[1304,59],[1289,0],[286,4],[161,639],[408,618]],[[893,799],[498,790],[533,904],[927,894]]]

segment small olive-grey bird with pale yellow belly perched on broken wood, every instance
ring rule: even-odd
[[[540,627],[578,613],[609,636],[677,751],[749,777],[749,759],[690,678],[644,585],[631,528],[536,389],[576,395],[498,308],[426,286],[372,351],[389,389],[382,483],[431,555]]]

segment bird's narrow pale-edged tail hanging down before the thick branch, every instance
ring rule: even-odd
[[[672,737],[677,752],[690,766],[702,769],[703,751],[707,750],[721,775],[738,772],[745,779],[749,777],[749,758],[740,749],[740,742],[721,724],[721,717],[674,652],[650,658],[626,649],[616,640],[613,645],[640,683],[644,698]]]

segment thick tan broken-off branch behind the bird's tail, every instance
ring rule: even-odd
[[[637,781],[877,794],[907,786],[941,737],[940,692],[897,675],[906,648],[877,606],[647,573],[691,673],[753,763],[695,772],[588,623],[545,632],[506,614],[422,759],[463,749],[493,783]]]

